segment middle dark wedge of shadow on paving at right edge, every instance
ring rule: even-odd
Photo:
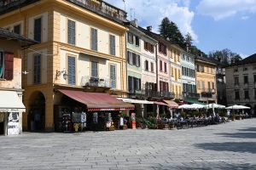
[[[195,147],[203,150],[234,151],[234,152],[242,152],[242,153],[247,152],[252,154],[256,153],[255,142],[203,143],[203,144],[195,144]]]

